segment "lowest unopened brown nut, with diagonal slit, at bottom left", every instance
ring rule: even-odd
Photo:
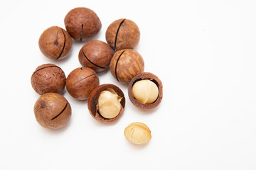
[[[33,111],[39,125],[50,130],[63,128],[71,116],[70,103],[65,97],[55,93],[39,97]]]

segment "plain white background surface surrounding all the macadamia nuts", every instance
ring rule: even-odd
[[[179,1],[1,1],[0,169],[256,169],[256,2]],[[74,42],[67,60],[53,61],[38,48],[50,26],[64,26],[66,13],[85,6],[107,27],[132,19],[141,30],[136,47],[145,72],[164,85],[158,108],[141,111],[129,101],[127,86],[110,72],[100,84],[119,86],[127,99],[124,115],[105,125],[65,90],[72,107],[68,125],[46,130],[36,122],[39,97],[31,74],[44,63],[65,75],[80,67]],[[132,145],[124,128],[149,126],[147,145]]]

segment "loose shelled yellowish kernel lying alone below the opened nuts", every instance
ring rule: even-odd
[[[144,123],[131,123],[124,129],[124,136],[136,145],[143,145],[151,140],[151,131]]]

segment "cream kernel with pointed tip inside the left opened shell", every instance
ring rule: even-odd
[[[107,89],[100,93],[98,98],[98,111],[104,118],[115,118],[121,110],[122,98],[113,89]]]

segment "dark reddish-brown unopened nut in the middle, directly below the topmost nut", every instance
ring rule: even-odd
[[[78,58],[82,67],[90,67],[95,72],[102,72],[110,65],[114,52],[110,45],[101,40],[91,40],[82,46]]]

